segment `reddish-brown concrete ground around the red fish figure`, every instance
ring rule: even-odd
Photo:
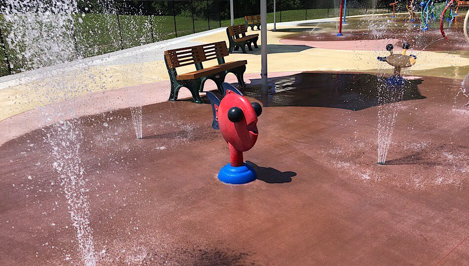
[[[390,164],[378,166],[376,88],[362,78],[304,73],[271,80],[275,94],[247,88],[265,106],[245,153],[259,179],[241,186],[216,179],[229,156],[208,104],[144,106],[141,140],[129,109],[80,117],[99,264],[464,265],[461,80],[422,77],[398,105]],[[0,146],[1,265],[81,264],[47,133]]]

